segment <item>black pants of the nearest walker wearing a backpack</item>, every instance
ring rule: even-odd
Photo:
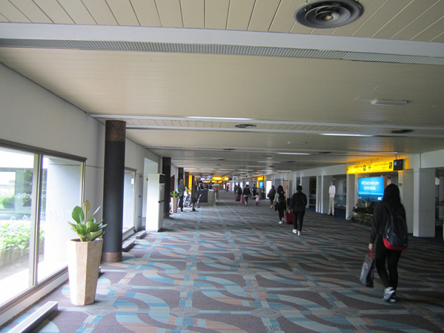
[[[374,261],[379,277],[385,288],[392,287],[394,290],[398,286],[398,261],[402,251],[389,250],[384,246],[382,237],[378,237],[376,250],[374,252]],[[387,269],[385,269],[387,262]]]

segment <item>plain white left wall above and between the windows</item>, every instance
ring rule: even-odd
[[[105,124],[1,64],[0,114],[0,139],[86,158],[85,198],[93,207],[103,204]],[[160,160],[126,140],[125,167],[136,169],[136,224],[142,219],[145,157]]]

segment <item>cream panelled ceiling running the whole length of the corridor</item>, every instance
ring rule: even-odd
[[[356,2],[0,1],[0,63],[195,175],[444,149],[444,0]]]

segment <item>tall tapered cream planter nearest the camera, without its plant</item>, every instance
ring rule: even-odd
[[[87,305],[96,298],[98,268],[101,264],[103,239],[67,241],[68,275],[71,303]]]

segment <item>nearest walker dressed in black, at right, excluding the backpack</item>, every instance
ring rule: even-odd
[[[399,195],[399,187],[395,184],[388,185],[384,190],[381,202],[374,205],[373,223],[370,230],[370,240],[368,248],[373,250],[373,243],[376,240],[374,250],[374,261],[379,277],[384,286],[383,300],[396,302],[396,290],[398,287],[398,261],[401,257],[402,250],[389,250],[383,243],[383,230],[385,220],[389,214],[385,205],[390,206],[392,212],[397,211],[401,214],[405,221],[405,208],[401,204],[401,196]],[[388,270],[385,269],[387,264]]]

